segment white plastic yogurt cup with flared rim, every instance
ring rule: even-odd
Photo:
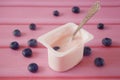
[[[48,64],[52,70],[60,72],[66,71],[73,68],[82,60],[84,44],[93,39],[93,36],[86,30],[80,29],[76,34],[75,39],[72,40],[72,34],[77,27],[78,25],[74,23],[67,23],[38,38],[38,42],[42,43],[48,49]],[[68,35],[69,37],[63,37],[65,35]],[[67,40],[65,40],[65,38]],[[57,42],[59,44],[59,39],[65,40],[66,42],[64,41],[63,44],[68,43],[69,48],[66,48],[63,51],[54,50],[53,44],[54,46],[58,46],[55,43]],[[63,44],[60,43],[60,45]],[[63,46],[65,47],[66,45]]]

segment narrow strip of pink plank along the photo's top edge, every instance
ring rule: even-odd
[[[96,0],[0,0],[0,7],[16,7],[16,6],[33,6],[33,7],[40,7],[40,6],[74,6],[74,5],[79,5],[79,6],[91,6]],[[117,7],[120,6],[120,1],[119,0],[100,0],[101,5],[104,7]]]

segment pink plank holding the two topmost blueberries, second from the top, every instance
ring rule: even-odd
[[[0,7],[0,24],[28,24],[31,22],[42,24],[64,24],[67,22],[80,23],[88,11],[88,7],[81,7],[80,14],[74,14],[72,7]],[[53,11],[60,11],[60,16],[53,16]],[[101,10],[87,24],[104,22],[106,24],[120,24],[120,7],[102,7]]]

